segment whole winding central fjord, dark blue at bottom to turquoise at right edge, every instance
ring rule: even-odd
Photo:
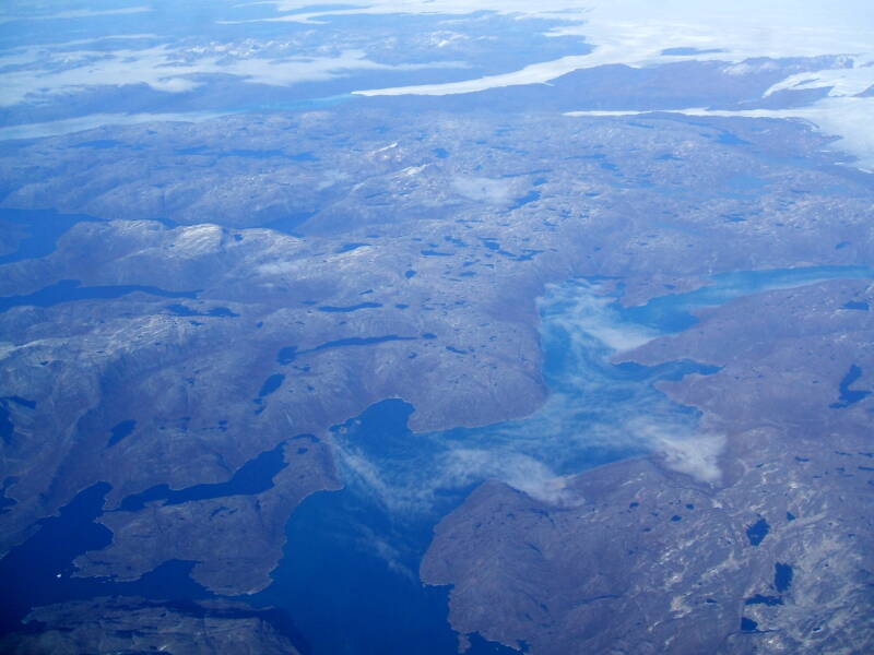
[[[695,307],[841,277],[874,277],[874,269],[720,275],[706,288],[631,309],[586,282],[552,288],[540,307],[545,405],[520,420],[414,434],[406,427],[414,408],[386,401],[335,427],[346,487],[317,493],[295,512],[285,559],[258,603],[287,609],[314,654],[454,653],[448,590],[423,586],[417,571],[434,525],[476,485],[497,478],[546,501],[574,502],[562,476],[650,452],[664,434],[695,438],[697,412],[652,383],[718,369],[615,366],[616,347],[684,329]],[[472,652],[510,651],[477,640]]]

